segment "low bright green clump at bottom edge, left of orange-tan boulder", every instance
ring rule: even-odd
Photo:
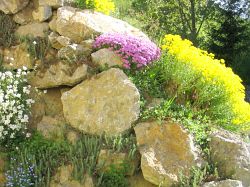
[[[123,163],[120,166],[111,165],[110,169],[101,177],[100,187],[127,187],[129,183],[126,179],[127,167]]]

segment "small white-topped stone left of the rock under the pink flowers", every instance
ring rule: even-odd
[[[80,44],[71,44],[61,48],[58,51],[57,57],[60,60],[66,60],[70,63],[87,60],[91,54],[89,48],[84,48]]]

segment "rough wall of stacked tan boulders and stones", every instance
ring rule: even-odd
[[[40,131],[46,138],[66,137],[72,144],[81,132],[105,133],[112,137],[135,131],[142,174],[131,177],[132,186],[175,185],[180,172],[188,176],[192,167],[202,164],[192,136],[181,124],[169,121],[161,125],[155,121],[136,124],[140,115],[140,93],[117,68],[122,65],[121,58],[108,49],[94,51],[92,47],[96,36],[108,32],[149,38],[124,21],[67,6],[70,3],[64,0],[0,1],[0,11],[12,15],[18,25],[17,36],[47,38],[51,46],[45,51],[43,61],[31,57],[26,43],[17,42],[9,48],[0,46],[5,68],[26,66],[31,71],[28,80],[35,103],[30,128]],[[34,40],[31,45],[38,44]],[[110,69],[97,71],[104,65]],[[156,98],[155,102],[158,100]],[[233,173],[231,178],[239,181],[210,182],[204,187],[249,187],[249,143],[228,132],[221,133],[211,134],[212,159],[221,163],[218,169],[222,175],[230,177],[228,172]],[[106,152],[102,150],[100,162],[120,163],[127,157],[127,153],[107,156]],[[230,164],[225,164],[225,159]],[[0,186],[4,180],[3,162],[0,157]],[[135,170],[138,160],[133,163]],[[70,165],[58,168],[51,186],[82,186],[70,178],[71,172]],[[83,186],[93,186],[92,179]]]

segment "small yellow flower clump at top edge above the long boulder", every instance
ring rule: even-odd
[[[115,11],[115,4],[112,0],[86,0],[87,7],[93,6],[95,11],[109,15]]]

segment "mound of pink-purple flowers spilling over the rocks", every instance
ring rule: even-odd
[[[94,48],[108,48],[123,59],[126,69],[148,66],[160,58],[160,49],[146,38],[126,34],[106,33],[96,38]]]

